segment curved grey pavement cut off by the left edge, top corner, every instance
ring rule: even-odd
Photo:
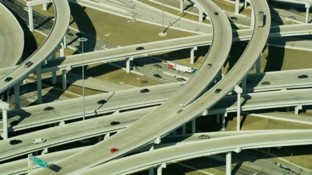
[[[0,69],[15,65],[24,49],[24,31],[14,15],[0,3]]]

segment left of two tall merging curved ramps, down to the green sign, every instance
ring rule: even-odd
[[[192,76],[190,80],[184,84],[183,88],[174,93],[167,102],[158,107],[157,110],[150,112],[144,118],[138,120],[138,122],[131,127],[124,130],[122,135],[116,134],[113,139],[107,140],[105,144],[98,144],[96,147],[92,147],[84,151],[82,154],[77,154],[76,157],[74,155],[66,161],[58,164],[58,166],[62,167],[58,173],[65,174],[80,168],[92,166],[94,163],[99,164],[101,162],[106,162],[120,157],[134,148],[146,145],[147,142],[154,140],[153,137],[148,137],[148,135],[146,135],[146,130],[156,129],[159,128],[159,124],[165,124],[166,120],[163,120],[162,118],[171,118],[171,115],[177,116],[177,110],[181,108],[181,103],[182,105],[188,103],[190,99],[196,97],[205,90],[206,86],[214,79],[217,72],[219,72],[228,56],[232,42],[232,31],[226,15],[217,5],[210,1],[200,0],[199,2],[198,5],[210,16],[213,26],[213,40],[206,58],[202,63],[203,66],[201,67],[203,68],[201,69],[200,67],[195,76]],[[215,14],[215,12],[218,14]],[[220,50],[220,48],[222,48],[222,50]],[[206,68],[208,63],[212,63],[213,65],[209,69]],[[202,77],[205,77],[205,79]],[[194,86],[194,84],[196,84],[196,86]],[[168,108],[170,108],[170,110],[168,110]],[[174,120],[175,119],[173,118],[173,121]],[[160,132],[160,130],[157,129],[157,132]],[[119,145],[119,147],[124,147],[125,149],[121,149],[123,151],[119,151],[118,154],[115,155],[111,155],[108,152],[97,154],[99,149],[105,150],[107,147],[111,147],[111,144]],[[88,161],[81,161],[81,156],[85,157],[85,160]],[[71,164],[70,162],[72,161],[76,163]],[[49,173],[54,172],[51,170],[38,172],[38,174]]]

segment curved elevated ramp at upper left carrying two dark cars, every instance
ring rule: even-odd
[[[55,16],[52,31],[42,45],[24,61],[24,63],[26,61],[32,61],[33,65],[29,68],[25,68],[24,63],[22,63],[18,65],[13,72],[1,77],[0,94],[8,90],[14,84],[21,83],[29,74],[33,73],[37,67],[41,66],[55,47],[59,46],[69,25],[70,9],[67,1],[53,1],[53,5],[57,16]],[[9,82],[4,82],[7,77],[12,77],[13,79]]]

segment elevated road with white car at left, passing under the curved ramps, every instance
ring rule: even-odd
[[[236,112],[237,97],[235,95],[227,96],[223,98],[217,105],[209,110],[209,114],[220,114],[225,112]],[[250,110],[259,110],[263,108],[275,108],[281,106],[294,106],[305,103],[312,104],[312,89],[309,90],[289,90],[285,91],[275,91],[275,92],[263,92],[263,93],[252,93],[242,95],[242,101],[244,99],[249,99],[246,102],[243,102],[242,111],[250,111]],[[76,140],[81,140],[83,138],[94,137],[98,135],[103,135],[105,133],[116,132],[119,129],[124,129],[126,127],[131,128],[129,126],[135,125],[136,121],[143,120],[146,114],[150,112],[154,112],[157,107],[152,108],[144,108],[141,110],[130,111],[126,113],[120,114],[112,114],[104,117],[89,119],[86,121],[74,122],[65,125],[64,127],[51,127],[48,129],[38,130],[36,132],[16,136],[10,138],[12,139],[20,139],[23,141],[23,144],[20,145],[9,145],[8,141],[0,141],[0,160],[6,160],[9,158],[14,158],[19,155],[25,155],[28,152],[33,152],[36,150],[43,149],[45,147],[52,147],[60,144],[65,144],[68,142],[73,142]],[[297,120],[301,120],[301,122],[305,122],[302,118],[297,118]],[[111,121],[120,121],[120,125],[116,127],[109,127],[109,123]],[[104,127],[103,127],[104,126]],[[57,134],[56,134],[57,133]],[[123,133],[123,132],[121,132]],[[223,132],[222,132],[223,133]],[[221,134],[222,134],[221,133]],[[121,135],[117,134],[116,136]],[[43,144],[34,145],[32,144],[32,139],[45,137],[48,141]],[[114,138],[116,137],[114,136]],[[109,139],[113,140],[113,139]],[[26,143],[24,144],[24,141]],[[108,142],[108,141],[106,141]],[[93,148],[97,148],[96,150],[103,150],[101,146],[103,143],[94,145]],[[93,149],[92,148],[92,149]],[[120,148],[120,147],[119,147]],[[90,148],[91,149],[91,148]],[[91,150],[92,150],[91,149]],[[110,148],[109,148],[110,149]],[[107,150],[109,150],[107,149]],[[84,151],[88,151],[87,149]],[[83,152],[84,152],[83,151]],[[93,149],[94,151],[94,149]],[[104,152],[105,153],[105,152]],[[88,152],[88,154],[91,154]],[[86,157],[88,156],[86,155]],[[89,158],[90,159],[90,158]],[[88,160],[89,160],[88,159]],[[91,158],[92,160],[92,158]]]

